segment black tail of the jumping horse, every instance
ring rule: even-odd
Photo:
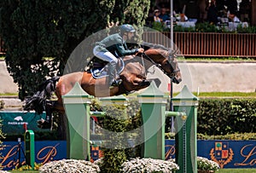
[[[43,84],[40,84],[38,91],[25,99],[23,110],[34,110],[38,114],[42,114],[45,111],[47,101],[49,101],[52,93],[55,92],[55,85],[59,79],[60,77],[49,78]]]

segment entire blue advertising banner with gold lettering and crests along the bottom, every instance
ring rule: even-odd
[[[102,157],[100,147],[91,146],[91,158]],[[12,170],[25,163],[24,142],[4,141],[0,165]],[[20,153],[19,153],[20,152]],[[256,141],[203,141],[197,142],[197,155],[217,162],[224,168],[256,168]],[[20,156],[20,157],[19,157]],[[166,140],[166,159],[175,158],[175,141]],[[66,141],[35,141],[35,162],[45,164],[52,160],[67,159]],[[92,161],[92,160],[91,160]]]

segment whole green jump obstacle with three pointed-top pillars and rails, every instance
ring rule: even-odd
[[[90,112],[93,98],[75,84],[62,99],[67,115],[67,158],[90,160],[90,116],[104,116],[105,112]],[[143,157],[165,159],[166,117],[176,117],[175,155],[179,165],[177,173],[197,172],[196,119],[198,98],[187,86],[172,98],[175,112],[166,111],[168,96],[156,87],[154,82],[137,95],[143,116]],[[111,97],[102,101],[125,104],[123,97]]]

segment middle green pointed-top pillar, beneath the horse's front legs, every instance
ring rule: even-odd
[[[143,116],[143,157],[165,159],[165,124],[166,103],[165,96],[154,82],[148,89],[137,95],[142,104]]]

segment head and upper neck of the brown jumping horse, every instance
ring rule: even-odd
[[[165,49],[148,49],[144,54],[146,59],[150,58],[156,65],[160,65],[160,69],[169,78],[172,78],[173,83],[179,84],[182,81],[182,75],[177,65],[177,59],[171,51]]]

